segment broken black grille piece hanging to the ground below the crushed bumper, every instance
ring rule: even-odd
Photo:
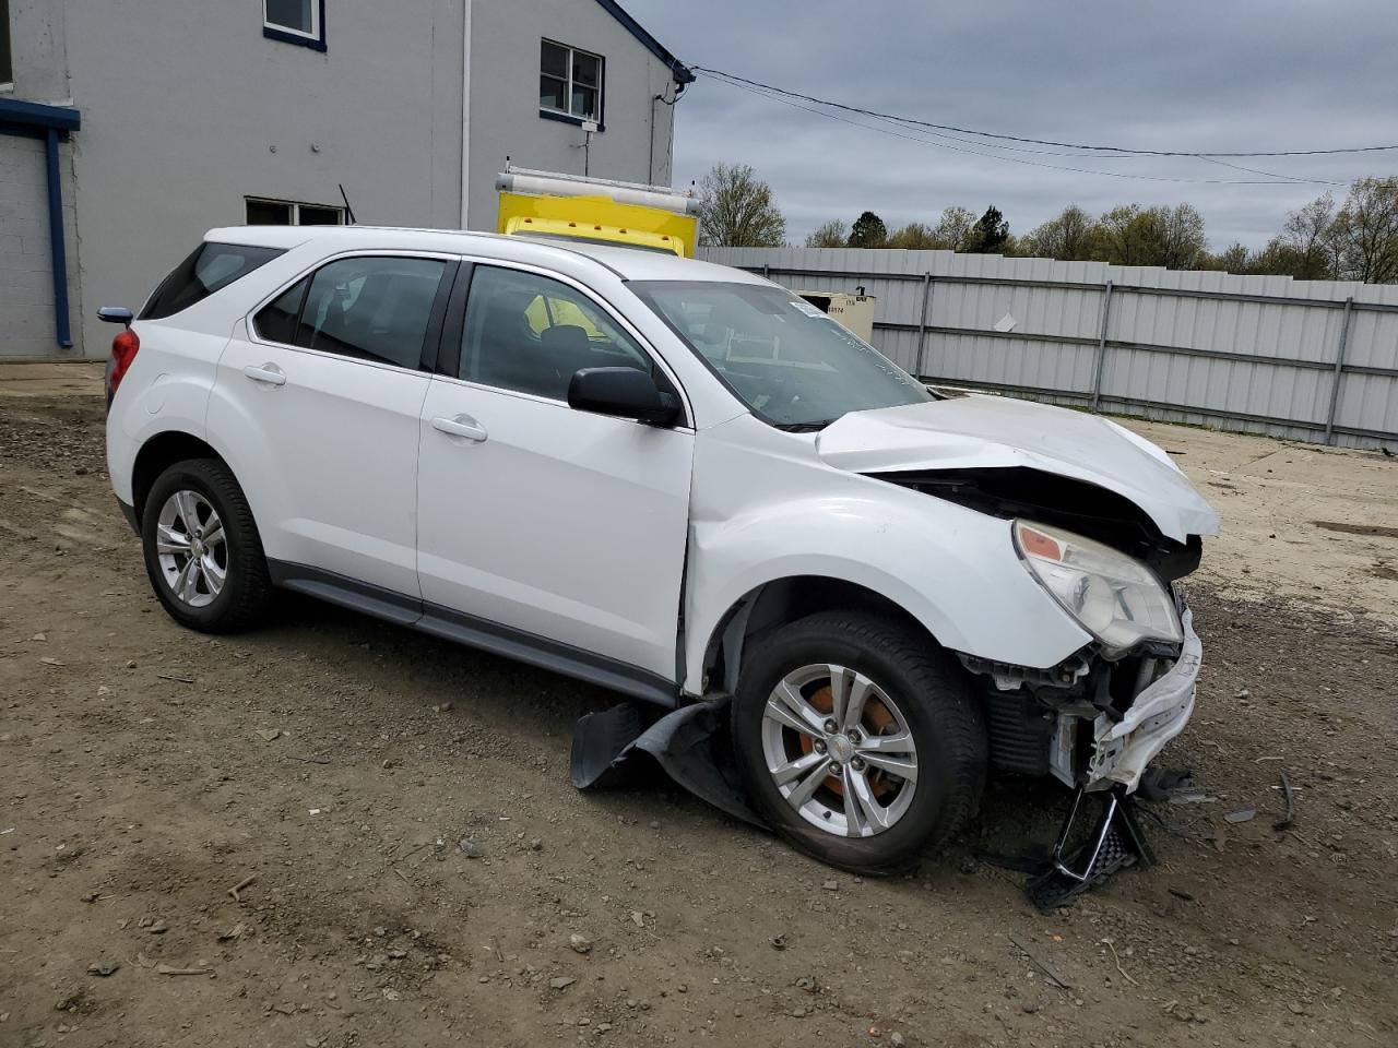
[[[1089,798],[1102,802],[1097,820],[1086,841],[1071,857],[1065,857],[1074,830],[1083,816],[1083,802]],[[1054,841],[1048,869],[1037,873],[1025,885],[1025,893],[1039,912],[1051,914],[1067,905],[1085,891],[1102,885],[1107,878],[1127,866],[1149,866],[1155,862],[1141,824],[1135,817],[1135,802],[1124,785],[1110,791],[1088,794],[1079,788],[1072,796],[1072,808]]]

